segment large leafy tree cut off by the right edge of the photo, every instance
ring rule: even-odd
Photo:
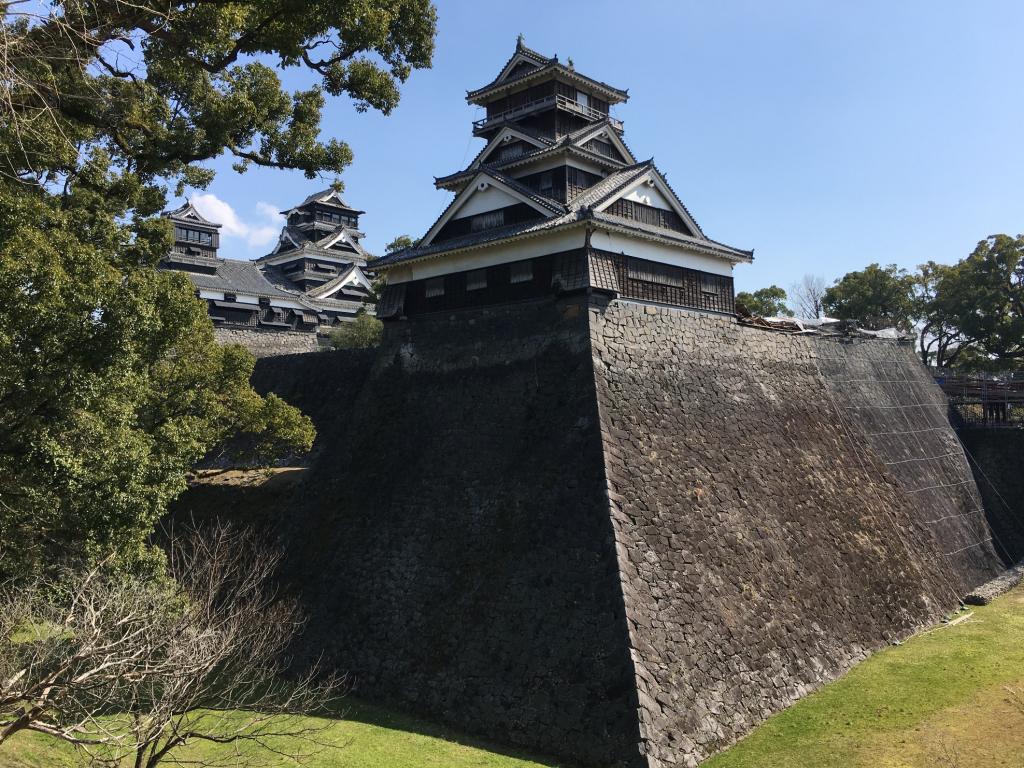
[[[1024,359],[1024,236],[994,234],[941,274],[933,311],[996,367]]]

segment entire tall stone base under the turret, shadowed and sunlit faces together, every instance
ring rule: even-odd
[[[577,296],[255,381],[337,403],[301,487],[238,502],[288,543],[304,651],[574,764],[696,765],[999,567],[892,342]]]

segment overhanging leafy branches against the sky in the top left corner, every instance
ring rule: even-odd
[[[0,56],[3,170],[74,181],[83,148],[150,180],[209,180],[195,164],[229,153],[250,164],[340,173],[351,151],[318,140],[324,94],[385,114],[398,84],[430,65],[429,0],[223,3],[7,2]],[[276,72],[315,78],[288,93]]]

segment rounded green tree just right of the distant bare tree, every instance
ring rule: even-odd
[[[828,314],[856,321],[872,331],[909,331],[914,316],[913,279],[895,264],[868,264],[843,275],[825,291],[821,303]]]

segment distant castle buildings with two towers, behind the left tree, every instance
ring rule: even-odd
[[[257,356],[313,351],[332,328],[374,309],[362,211],[325,189],[283,213],[276,246],[255,261],[219,257],[220,224],[191,203],[164,214],[174,245],[162,267],[188,273],[218,339]]]

